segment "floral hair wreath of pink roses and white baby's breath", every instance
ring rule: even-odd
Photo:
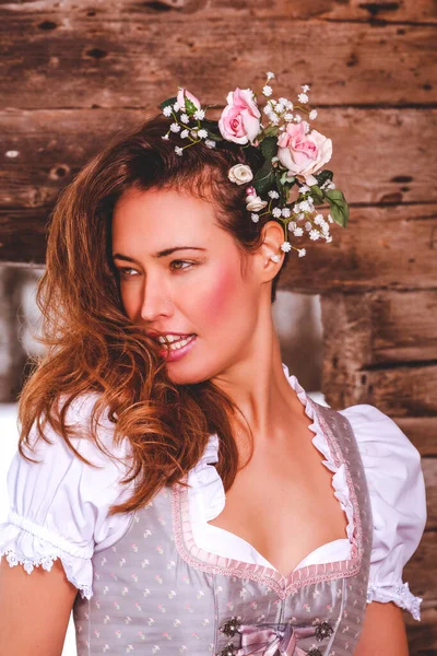
[[[270,214],[284,226],[284,242],[281,250],[297,250],[298,256],[306,255],[306,248],[298,248],[291,242],[291,236],[302,237],[305,231],[309,238],[323,238],[332,242],[329,224],[335,221],[345,227],[349,220],[347,202],[332,181],[333,173],[323,165],[332,156],[332,141],[310,128],[302,114],[309,120],[317,117],[317,110],[305,107],[308,104],[309,86],[302,86],[303,93],[297,96],[298,103],[280,97],[271,98],[272,87],[269,82],[275,75],[267,73],[267,83],[262,95],[269,98],[262,108],[268,118],[261,124],[261,112],[257,95],[251,89],[239,89],[227,94],[227,105],[218,121],[205,119],[208,105],[202,109],[199,99],[187,89],[178,87],[178,94],[161,103],[164,116],[174,117],[163,139],[169,132],[179,132],[181,139],[189,141],[184,147],[175,145],[178,155],[186,148],[204,140],[208,148],[214,148],[217,141],[233,141],[243,148],[257,148],[263,156],[263,164],[253,176],[247,164],[236,164],[228,171],[228,178],[236,185],[249,185],[246,189],[246,209],[251,220],[257,223],[260,216]],[[291,200],[291,190],[298,186],[297,198]],[[269,200],[261,198],[267,195]],[[330,212],[328,221],[316,210],[317,206],[328,202]],[[259,213],[261,210],[263,212]],[[274,262],[281,259],[280,254],[271,256]]]

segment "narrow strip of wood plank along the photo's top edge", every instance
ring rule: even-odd
[[[4,11],[16,13],[59,14],[69,13],[86,17],[101,19],[102,15],[114,17],[129,16],[132,20],[143,16],[186,15],[201,13],[211,20],[217,14],[222,19],[294,19],[295,21],[359,21],[370,22],[375,25],[385,22],[393,23],[429,23],[437,22],[437,9],[430,0],[412,0],[392,2],[379,0],[378,2],[363,2],[362,0],[270,0],[268,3],[253,3],[251,0],[155,0],[154,2],[117,2],[116,0],[94,0],[92,7],[84,7],[76,0],[62,0],[61,9],[54,5],[51,0],[20,0],[20,2],[4,2]],[[173,10],[173,11],[170,11]],[[46,30],[50,30],[49,26]]]

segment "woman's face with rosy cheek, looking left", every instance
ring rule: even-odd
[[[164,347],[175,383],[209,379],[249,352],[260,300],[253,256],[243,270],[209,202],[130,190],[115,208],[113,259],[129,318],[147,333],[190,340],[168,353]]]

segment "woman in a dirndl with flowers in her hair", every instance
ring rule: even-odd
[[[49,349],[20,399],[0,530],[0,653],[59,655],[73,608],[80,655],[408,654],[420,454],[373,406],[318,406],[281,362],[291,249],[247,186],[263,164],[244,110],[222,116],[233,139],[182,157],[155,117],[57,203]]]

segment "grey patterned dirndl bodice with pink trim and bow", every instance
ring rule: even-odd
[[[78,656],[350,656],[366,611],[371,511],[350,422],[310,401],[335,466],[345,464],[355,531],[350,560],[283,576],[197,547],[188,490],[164,487],[92,559],[93,597],[73,607]],[[290,539],[294,539],[291,528]]]

